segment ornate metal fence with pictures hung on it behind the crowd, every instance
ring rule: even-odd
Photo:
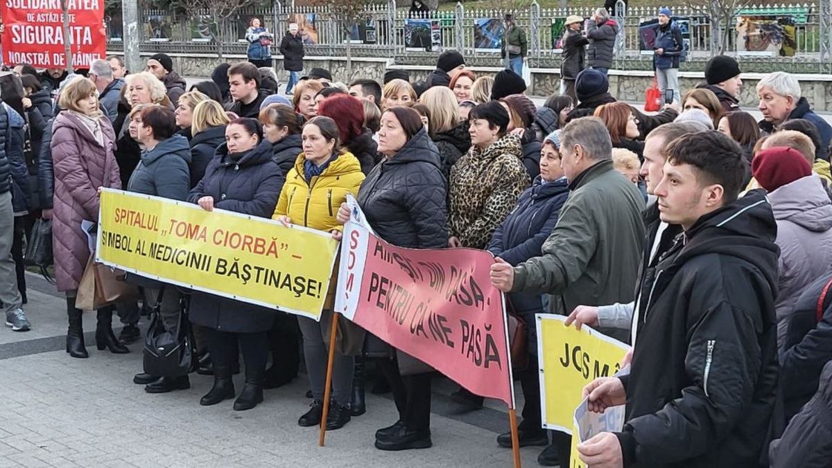
[[[703,2],[704,4],[704,2]],[[775,6],[749,6],[735,12],[727,33],[725,53],[737,57],[748,71],[785,70],[832,73],[832,0]],[[537,2],[510,11],[518,27],[527,32],[532,66],[557,67],[559,41],[567,16],[590,17],[592,8],[541,8]],[[344,28],[325,7],[295,7],[275,2],[275,7],[240,10],[224,22],[207,14],[186,16],[159,10],[141,11],[142,52],[244,53],[245,28],[252,17],[270,31],[282,32],[290,22],[304,28],[307,55],[342,56],[351,48],[354,57],[393,58],[396,62],[429,65],[439,52],[457,49],[474,65],[500,64],[502,18],[507,11],[468,9],[458,3],[453,10],[412,16],[395,2],[369,4],[359,20]],[[676,7],[674,19],[685,32],[687,61],[682,69],[700,70],[714,55],[716,36],[725,25],[711,22],[705,11]],[[613,19],[619,23],[615,67],[650,69],[652,52],[646,43],[656,8],[630,7],[619,2]],[[108,49],[120,48],[121,18],[109,22]],[[217,38],[215,40],[215,37]]]

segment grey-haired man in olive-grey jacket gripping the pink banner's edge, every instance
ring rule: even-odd
[[[646,233],[644,197],[612,167],[612,140],[600,119],[567,124],[560,152],[571,193],[542,256],[516,267],[498,258],[491,282],[506,293],[551,294],[552,313],[570,313],[581,304],[629,303]],[[570,437],[552,436],[560,465],[569,466]]]

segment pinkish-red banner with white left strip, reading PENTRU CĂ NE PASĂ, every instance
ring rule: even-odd
[[[474,249],[414,250],[344,226],[335,311],[483,397],[514,407],[503,293],[494,258]]]

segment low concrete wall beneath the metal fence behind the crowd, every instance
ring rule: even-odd
[[[114,52],[118,55],[120,52]],[[142,58],[151,54],[143,54]],[[173,59],[174,69],[183,76],[210,76],[211,71],[220,60],[214,54],[169,54]],[[225,62],[235,63],[244,61],[241,55],[231,55],[224,58]],[[281,81],[286,79],[286,72],[282,71],[280,57],[276,57],[278,76]],[[411,81],[423,80],[433,70],[433,67],[414,65],[394,65],[391,60],[384,58],[356,57],[353,59],[352,76],[347,76],[347,61],[344,57],[306,57],[305,71],[313,67],[323,67],[332,73],[334,81],[349,83],[357,78],[372,78],[382,81],[384,71],[388,69],[404,69],[409,71]],[[472,67],[478,76],[493,76],[500,68]],[[679,82],[682,93],[704,81],[701,72],[680,72]],[[302,76],[302,75],[301,75]],[[757,106],[756,85],[765,76],[760,73],[743,74],[743,86],[740,91],[742,106]],[[830,75],[796,75],[800,80],[803,96],[808,99],[815,111],[832,112],[832,76]],[[610,71],[610,93],[622,101],[644,101],[645,91],[652,86],[653,76],[650,71]],[[532,68],[532,86],[527,91],[533,96],[549,96],[560,90],[560,74],[557,69]]]

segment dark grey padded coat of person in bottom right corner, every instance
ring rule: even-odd
[[[793,383],[790,381],[790,384]],[[832,458],[832,362],[827,362],[820,376],[815,397],[792,418],[780,439],[771,442],[771,468],[823,468]]]

